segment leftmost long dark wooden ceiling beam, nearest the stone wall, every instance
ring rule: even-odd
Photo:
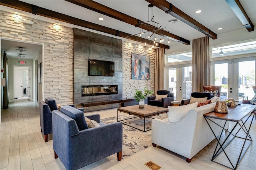
[[[74,18],[72,16],[68,16],[68,15],[61,14],[61,13],[58,13],[58,12],[55,12],[55,11],[52,11],[52,10],[48,10],[46,8],[41,8],[39,6],[28,4],[26,2],[22,2],[22,1],[18,1],[18,0],[1,0],[0,5],[8,6],[10,8],[14,8],[14,9],[17,9],[17,10],[22,10],[22,11],[29,12],[29,13],[32,13],[32,14],[35,14],[35,15],[40,15],[40,16],[44,16],[44,17],[47,17],[47,18],[52,18],[54,20],[63,21],[63,22],[66,22],[66,23],[78,25],[78,26],[81,26],[81,27],[86,27],[86,28],[89,28],[89,29],[93,29],[93,30],[97,30],[97,31],[100,31],[100,32],[108,33],[108,34],[111,34],[111,35],[116,35],[116,36],[126,38],[126,39],[129,36],[130,40],[138,41],[138,42],[141,42],[141,43],[146,42],[149,45],[154,45],[154,41],[144,39],[142,37],[138,37],[138,36],[135,36],[135,35],[132,36],[131,34],[128,34],[128,33],[122,32],[122,31],[118,31],[116,29],[112,29],[112,28],[109,28],[109,27],[98,25],[96,23],[84,21],[84,20],[81,20],[81,19],[78,19],[78,18]],[[161,47],[161,48],[164,48],[164,49],[170,49],[170,46],[162,44],[162,43],[158,43],[157,47]]]

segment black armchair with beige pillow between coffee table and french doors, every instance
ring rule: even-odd
[[[157,90],[156,96],[148,96],[148,105],[168,107],[174,101],[174,93],[169,90]]]

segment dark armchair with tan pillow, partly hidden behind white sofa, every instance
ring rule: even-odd
[[[210,100],[212,95],[210,93],[205,92],[192,92],[190,99],[185,99],[181,101],[181,105],[192,104],[194,102],[205,102],[206,100]]]

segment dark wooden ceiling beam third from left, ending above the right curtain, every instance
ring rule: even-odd
[[[217,34],[212,32],[210,29],[199,23],[198,21],[194,20],[174,5],[169,3],[166,0],[146,0],[150,4],[156,6],[157,8],[166,12],[166,14],[170,14],[171,16],[175,17],[176,19],[188,24],[189,26],[193,27],[194,29],[200,31],[204,35],[211,37],[212,39],[217,39]]]

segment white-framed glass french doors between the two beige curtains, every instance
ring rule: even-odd
[[[174,93],[174,100],[190,98],[192,92],[191,64],[166,66],[166,87]]]

